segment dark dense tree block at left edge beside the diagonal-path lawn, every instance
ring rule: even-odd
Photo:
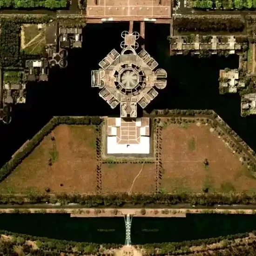
[[[19,67],[20,60],[20,24],[13,21],[1,21],[0,56],[2,67]]]

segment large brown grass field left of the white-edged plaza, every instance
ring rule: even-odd
[[[93,126],[56,127],[0,183],[0,191],[96,192],[95,139]]]

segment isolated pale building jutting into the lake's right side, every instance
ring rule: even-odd
[[[220,70],[219,91],[220,94],[237,93],[237,89],[244,88],[245,82],[241,81],[238,69]]]

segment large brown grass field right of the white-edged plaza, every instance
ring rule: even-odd
[[[208,166],[203,164],[205,158]],[[163,128],[162,163],[160,188],[165,192],[256,191],[256,179],[209,126],[191,123]]]

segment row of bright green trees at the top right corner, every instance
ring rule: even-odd
[[[190,0],[190,5],[200,9],[251,9],[256,8],[256,0]]]

